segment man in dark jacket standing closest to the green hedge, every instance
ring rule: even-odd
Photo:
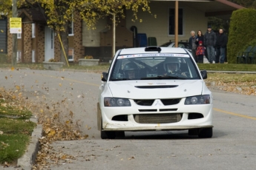
[[[226,44],[228,43],[228,38],[226,34],[223,33],[223,29],[220,28],[219,34],[217,35],[216,41],[216,63],[223,64],[225,61]]]

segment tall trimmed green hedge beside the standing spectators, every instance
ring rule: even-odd
[[[249,46],[256,38],[256,10],[241,9],[232,13],[229,27],[228,61],[237,62],[237,52]]]

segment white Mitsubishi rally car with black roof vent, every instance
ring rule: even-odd
[[[211,91],[191,53],[183,48],[118,50],[99,87],[102,139],[125,131],[185,130],[212,137]]]

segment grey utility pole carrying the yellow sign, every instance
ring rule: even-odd
[[[17,0],[13,0],[13,18],[17,18]],[[12,55],[12,65],[16,66],[17,63],[17,34],[13,34],[13,55]]]

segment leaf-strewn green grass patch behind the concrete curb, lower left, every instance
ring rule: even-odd
[[[29,120],[32,113],[21,101],[4,99],[9,92],[0,91],[0,163],[14,163],[22,157],[36,123]]]

